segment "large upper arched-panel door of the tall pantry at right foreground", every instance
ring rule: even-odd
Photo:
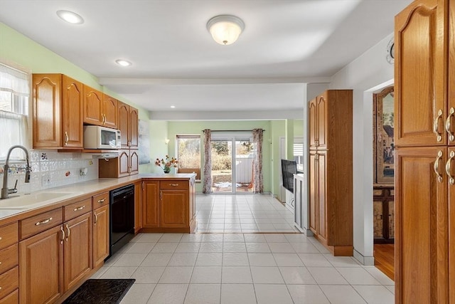
[[[395,17],[395,146],[446,145],[444,0],[417,0]]]

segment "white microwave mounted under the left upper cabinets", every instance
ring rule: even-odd
[[[98,125],[84,126],[84,149],[120,149],[120,130]]]

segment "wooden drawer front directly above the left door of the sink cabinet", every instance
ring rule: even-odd
[[[21,221],[21,239],[33,236],[53,226],[63,223],[63,212],[61,208],[53,209]]]

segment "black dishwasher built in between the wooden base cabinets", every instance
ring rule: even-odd
[[[112,190],[109,192],[109,200],[109,256],[112,256],[134,238],[134,185]]]

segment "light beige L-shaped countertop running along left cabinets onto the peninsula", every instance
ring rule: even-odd
[[[140,182],[143,179],[189,180],[193,177],[196,177],[196,174],[136,174],[119,179],[92,179],[87,182],[63,187],[43,189],[38,192],[32,192],[31,194],[10,194],[9,199],[0,199],[0,225],[6,224],[5,220],[7,219],[11,218],[11,220],[14,220],[18,218],[19,215],[22,218],[26,216],[26,213],[32,215],[31,211],[36,209],[48,211],[58,208],[60,205],[63,206],[63,203],[71,204],[82,199],[87,199],[95,194]]]

